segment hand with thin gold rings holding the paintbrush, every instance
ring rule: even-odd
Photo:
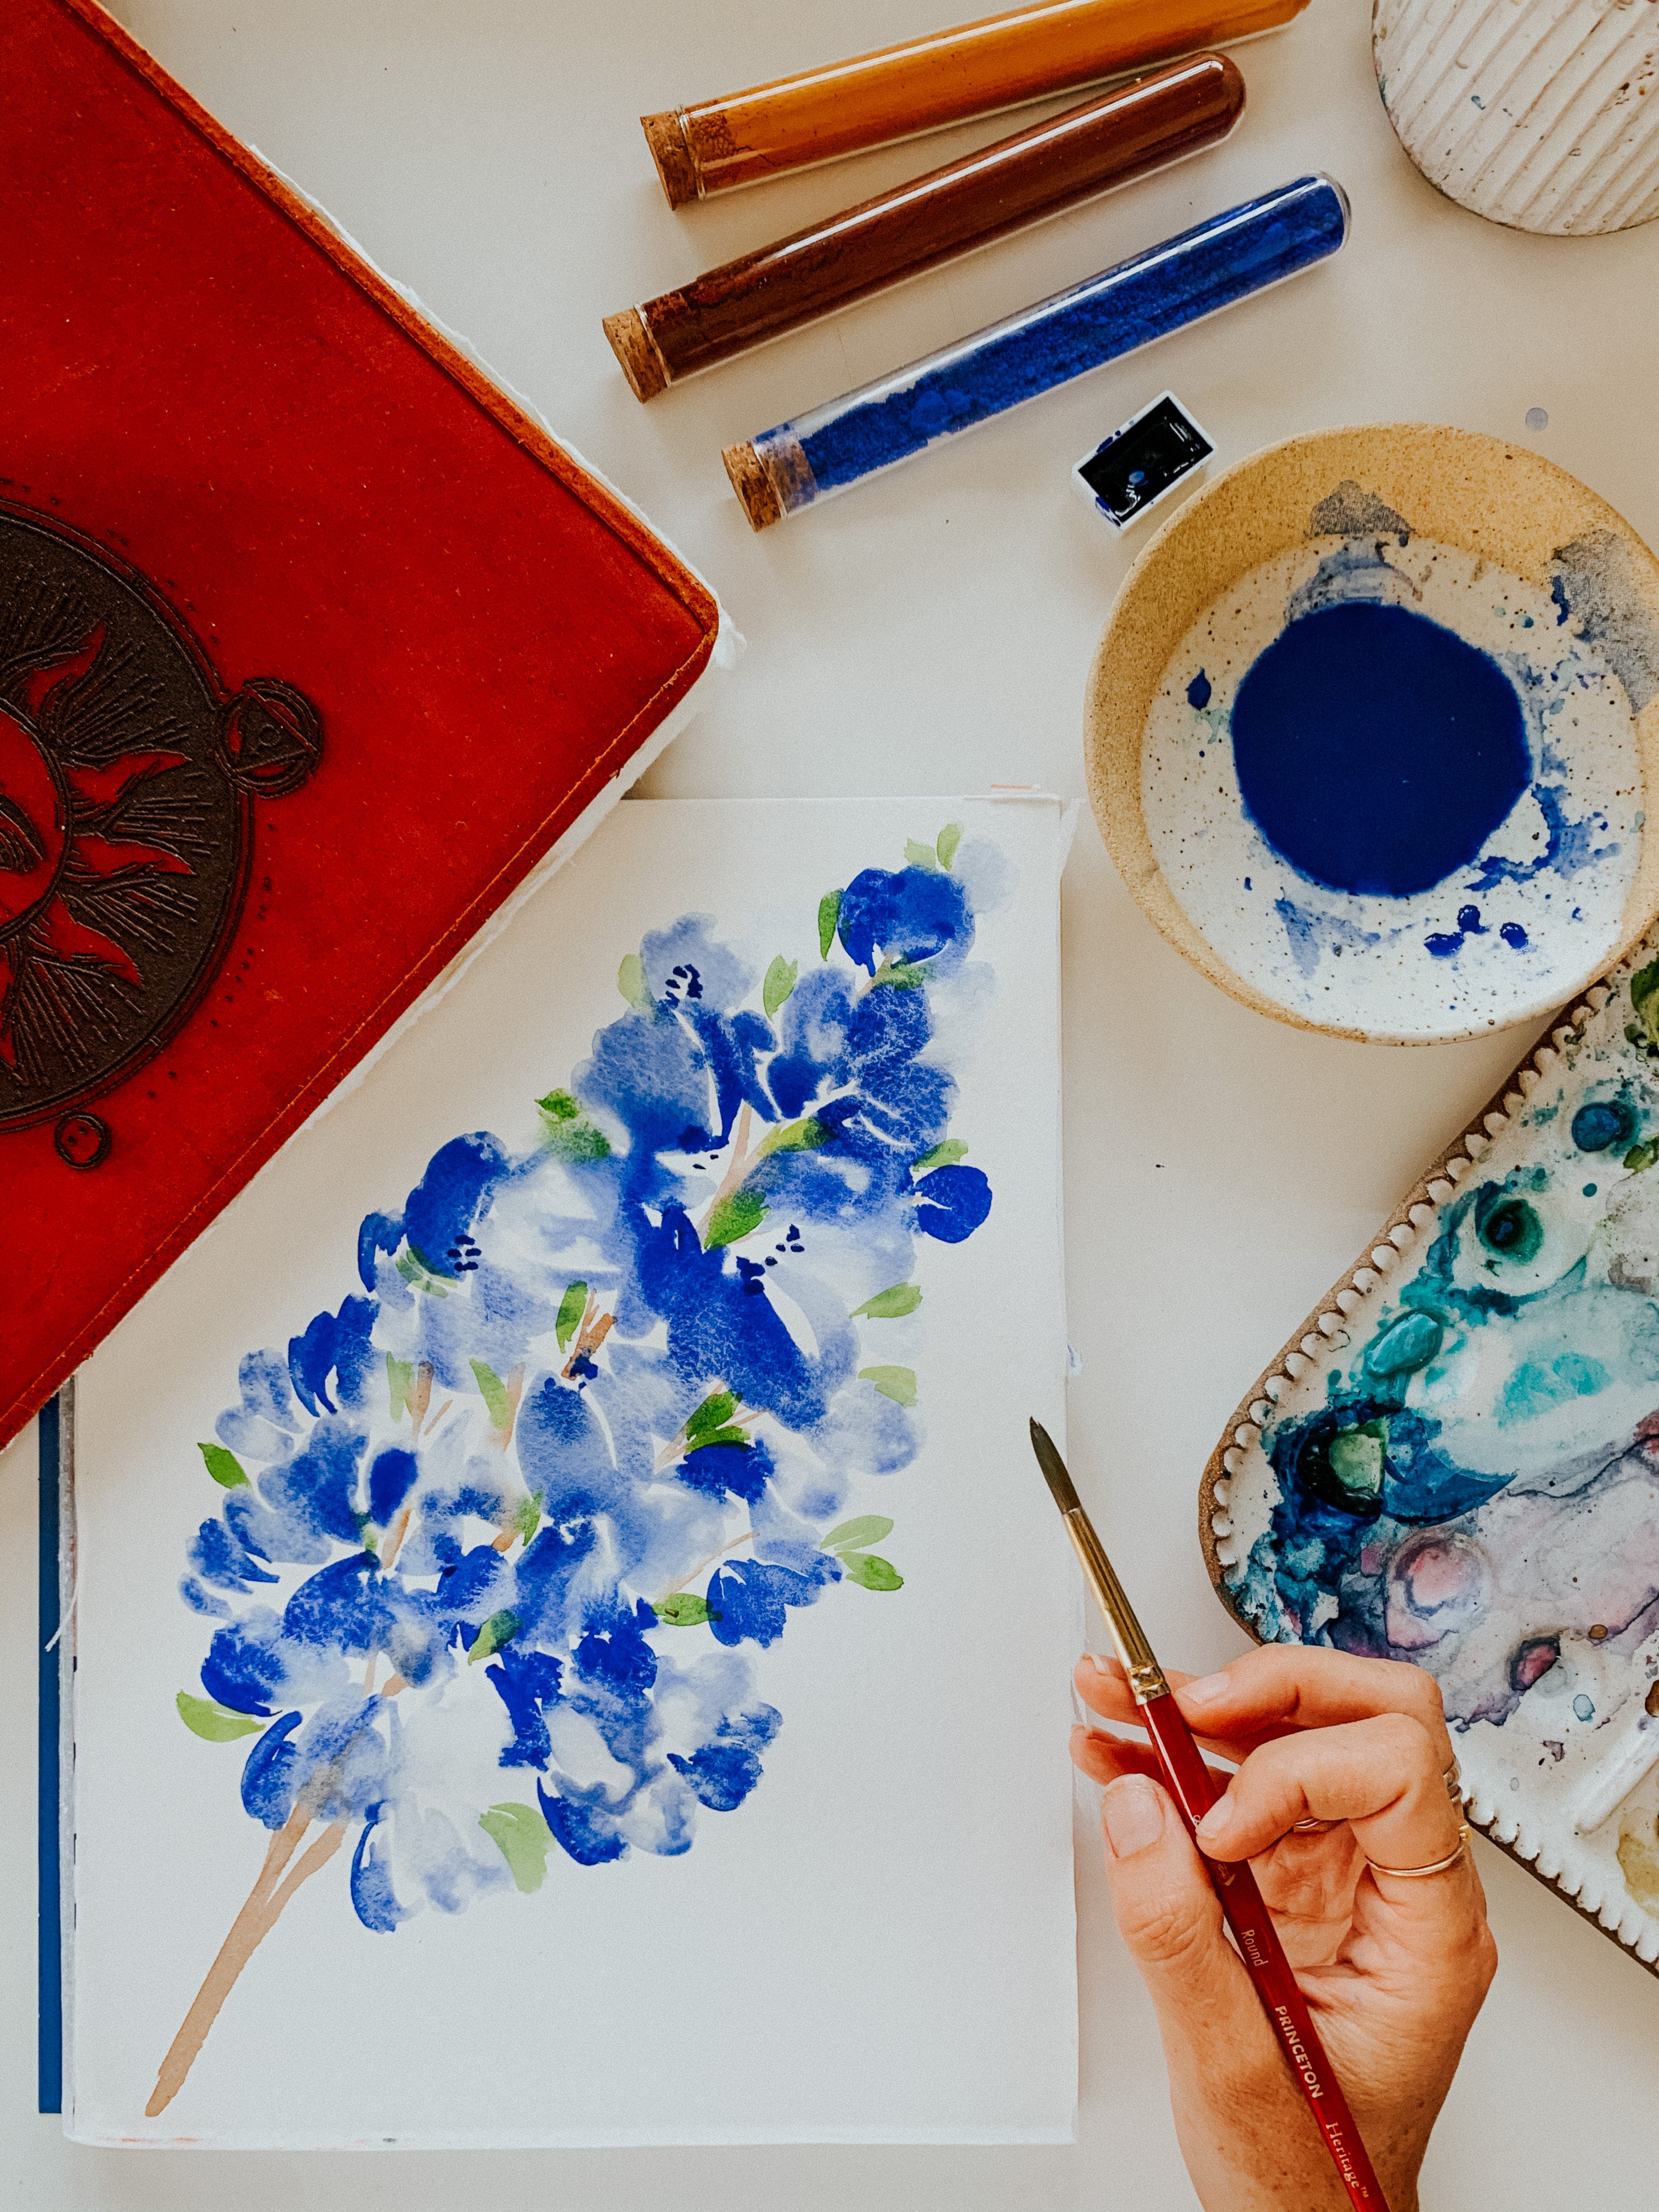
[[[1091,1712],[1135,1725],[1117,1661],[1084,1659],[1075,1679]],[[1380,1871],[1458,1845],[1440,1690],[1413,1666],[1285,1644],[1170,1686],[1203,1750],[1241,1761],[1217,1774],[1228,1790],[1203,1851],[1252,1863],[1389,2212],[1416,2212],[1429,2130],[1498,1969],[1467,1851],[1420,1880]],[[1077,1728],[1071,1756],[1106,1783],[1113,1911],[1157,2006],[1206,2212],[1347,2208],[1150,1745]],[[1298,1820],[1329,1827],[1294,1834]]]

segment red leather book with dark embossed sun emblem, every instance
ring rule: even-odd
[[[719,606],[91,0],[0,38],[0,1442],[679,719]]]

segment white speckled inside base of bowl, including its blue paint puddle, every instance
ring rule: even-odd
[[[1190,622],[1146,714],[1141,816],[1261,998],[1429,1042],[1537,1018],[1613,958],[1641,750],[1590,602],[1385,515],[1285,546]]]

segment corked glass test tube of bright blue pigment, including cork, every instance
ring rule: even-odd
[[[1212,215],[1099,276],[958,345],[726,449],[757,531],[878,476],[1022,400],[1325,261],[1347,239],[1347,192],[1298,177]]]

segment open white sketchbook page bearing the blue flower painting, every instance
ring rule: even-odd
[[[77,2141],[1068,2139],[1066,838],[624,805],[104,1340]]]

